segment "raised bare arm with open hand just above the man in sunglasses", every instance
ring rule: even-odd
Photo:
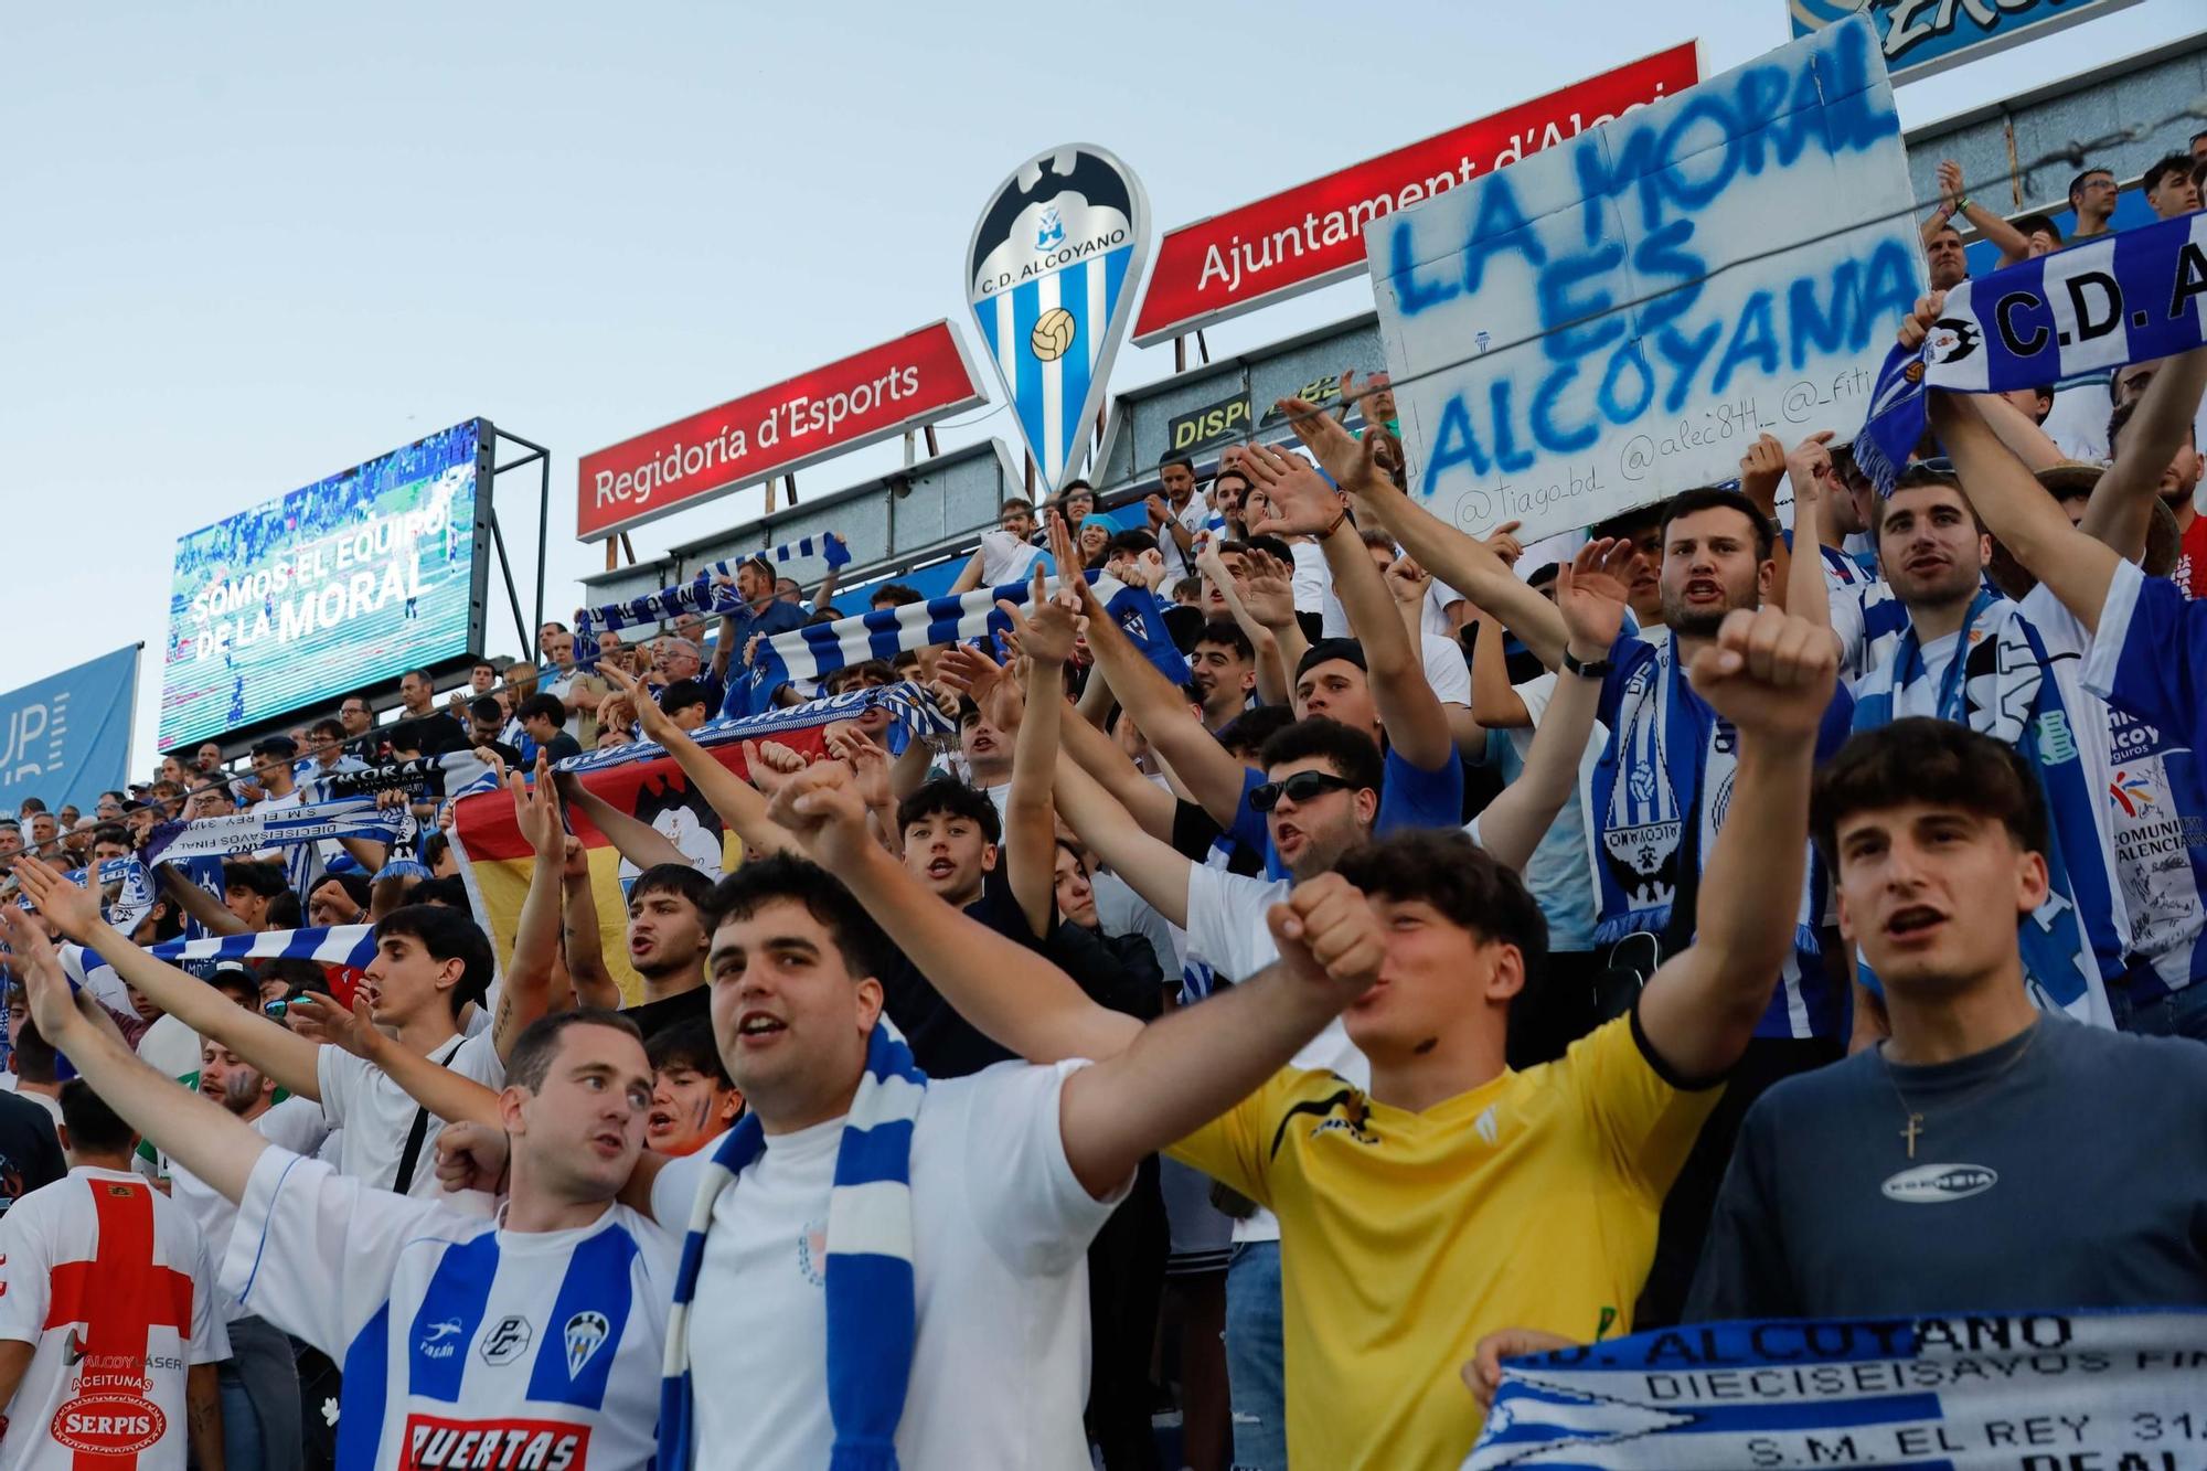
[[[1243,453],[1256,488],[1265,493],[1271,515],[1249,526],[1254,535],[1309,535],[1326,552],[1333,572],[1333,594],[1348,614],[1348,627],[1364,645],[1373,705],[1388,740],[1419,771],[1439,771],[1457,760],[1454,733],[1441,700],[1426,682],[1426,660],[1395,612],[1395,594],[1373,565],[1371,552],[1348,523],[1348,504],[1300,455],[1282,455],[1262,444]],[[1516,581],[1516,574],[1507,574]],[[1529,588],[1525,592],[1532,592]],[[1538,594],[1532,594],[1540,601]],[[1547,607],[1543,601],[1540,607]]]

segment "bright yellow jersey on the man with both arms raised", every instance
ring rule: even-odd
[[[1635,1023],[1424,1113],[1287,1069],[1172,1146],[1280,1217],[1289,1464],[1454,1471],[1479,1338],[1631,1330],[1662,1197],[1721,1093],[1666,1082]]]

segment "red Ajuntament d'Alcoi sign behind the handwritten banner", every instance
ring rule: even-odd
[[[1134,345],[1364,272],[1364,225],[1702,80],[1695,42],[1165,234]]]

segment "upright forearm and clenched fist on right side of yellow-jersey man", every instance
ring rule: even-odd
[[[1702,870],[1693,948],[1640,992],[1640,1031],[1677,1078],[1721,1078],[1739,1060],[1792,954],[1836,671],[1830,632],[1774,607],[1735,610],[1693,658],[1695,691],[1739,731],[1739,771]]]

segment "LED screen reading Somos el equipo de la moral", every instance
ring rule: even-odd
[[[309,711],[481,634],[490,426],[455,424],[183,537],[161,749]]]

